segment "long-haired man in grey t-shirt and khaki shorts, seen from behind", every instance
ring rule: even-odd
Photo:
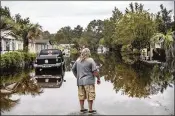
[[[89,113],[96,113],[92,109],[93,101],[95,100],[95,77],[97,77],[97,84],[100,84],[100,77],[97,71],[95,61],[90,58],[91,53],[88,48],[81,51],[80,57],[76,60],[72,67],[72,72],[77,78],[78,97],[80,100],[81,113],[88,110],[84,108],[84,100],[87,99],[89,106]]]

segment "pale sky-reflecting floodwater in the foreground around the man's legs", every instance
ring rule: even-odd
[[[19,104],[2,115],[71,115],[79,114],[76,78],[66,72],[60,88],[44,88],[44,92],[31,95],[13,95]],[[88,108],[87,102],[85,108]],[[132,98],[113,90],[113,84],[102,78],[96,85],[94,109],[101,115],[174,115],[174,87],[149,98]]]

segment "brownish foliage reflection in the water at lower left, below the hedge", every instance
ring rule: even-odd
[[[1,112],[10,111],[11,108],[19,103],[20,99],[12,100],[12,95],[37,96],[43,93],[43,90],[38,85],[36,85],[33,80],[31,80],[28,72],[22,72],[20,74],[14,75],[14,77],[3,77],[3,81],[1,82],[1,89],[6,88],[2,85],[7,86],[12,83],[16,84],[13,88],[11,88],[11,90],[8,89],[8,91],[10,91],[9,93],[1,92]]]

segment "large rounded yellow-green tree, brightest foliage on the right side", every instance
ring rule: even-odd
[[[143,5],[135,4],[135,11],[128,10],[128,13],[123,15],[116,23],[114,44],[131,44],[133,48],[139,50],[149,45],[149,40],[155,33],[156,24],[154,15],[142,10],[142,8]]]

